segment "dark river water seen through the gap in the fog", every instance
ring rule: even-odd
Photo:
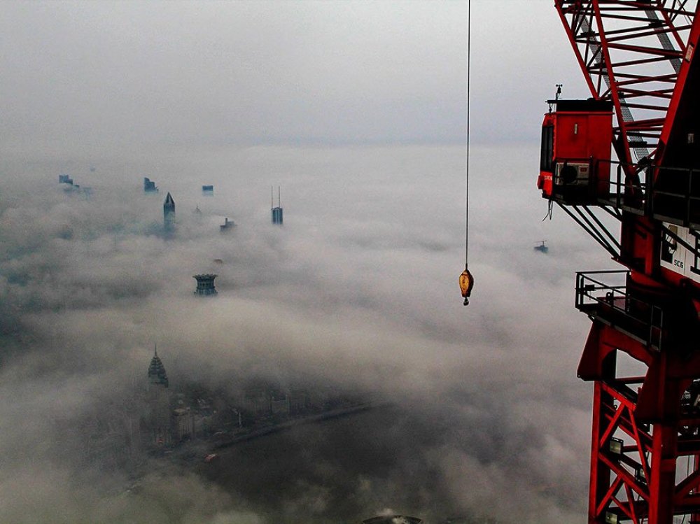
[[[360,523],[391,509],[439,522],[456,510],[424,458],[435,441],[425,420],[382,406],[221,448],[200,468],[266,520]]]

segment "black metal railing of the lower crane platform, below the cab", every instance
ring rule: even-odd
[[[576,309],[660,351],[664,310],[633,296],[626,285],[628,277],[629,271],[577,272]]]

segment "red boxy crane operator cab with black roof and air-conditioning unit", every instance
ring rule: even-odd
[[[537,178],[542,197],[582,205],[608,199],[612,102],[556,99],[547,103]]]

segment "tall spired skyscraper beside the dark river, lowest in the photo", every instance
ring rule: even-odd
[[[170,444],[170,390],[165,366],[154,346],[146,384],[146,434],[150,444]]]

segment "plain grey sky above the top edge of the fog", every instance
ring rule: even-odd
[[[4,148],[464,141],[465,1],[5,2],[0,16]],[[535,136],[554,83],[583,86],[554,8],[475,0],[472,19],[475,141]]]

